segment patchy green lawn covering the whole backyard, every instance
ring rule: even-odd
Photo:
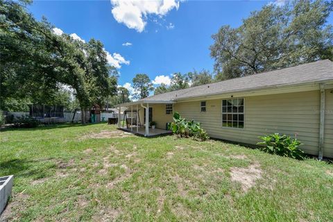
[[[3,130],[0,139],[0,176],[15,175],[1,219],[333,221],[325,162],[135,137],[105,123]]]

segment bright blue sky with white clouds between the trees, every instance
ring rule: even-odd
[[[55,33],[85,42],[101,40],[108,61],[119,71],[119,85],[133,92],[135,74],[147,74],[157,86],[168,85],[175,72],[213,71],[211,36],[223,25],[240,26],[251,11],[267,3],[272,2],[33,1],[28,10],[36,19],[46,17]]]

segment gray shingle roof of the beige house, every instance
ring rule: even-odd
[[[149,96],[140,101],[177,101],[178,99],[223,94],[228,92],[243,92],[251,89],[263,89],[283,85],[298,85],[300,83],[317,83],[333,80],[333,62],[320,60],[296,67],[268,71],[261,74],[233,78],[218,83],[210,83],[188,89]]]

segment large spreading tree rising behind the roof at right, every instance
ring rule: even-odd
[[[332,59],[332,2],[287,1],[252,12],[238,28],[222,26],[210,46],[217,80]]]

